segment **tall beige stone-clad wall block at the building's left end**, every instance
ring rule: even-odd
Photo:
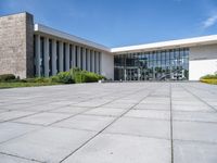
[[[0,17],[0,74],[34,75],[34,20],[28,13]]]

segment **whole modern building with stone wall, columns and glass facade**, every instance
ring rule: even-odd
[[[0,17],[0,74],[48,77],[72,67],[115,80],[197,80],[217,72],[217,35],[111,49],[26,12]]]

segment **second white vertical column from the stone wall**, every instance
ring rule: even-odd
[[[44,37],[44,60],[43,60],[43,65],[44,65],[44,76],[49,77],[49,38]]]

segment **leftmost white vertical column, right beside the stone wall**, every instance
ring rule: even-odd
[[[40,77],[40,65],[41,65],[41,59],[40,59],[40,35],[36,35],[36,76]]]

